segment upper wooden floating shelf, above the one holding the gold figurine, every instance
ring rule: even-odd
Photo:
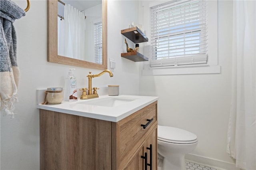
[[[148,42],[148,38],[143,34],[143,32],[138,27],[127,28],[121,30],[121,34],[126,36],[129,40],[134,43]]]

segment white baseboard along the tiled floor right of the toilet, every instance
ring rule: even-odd
[[[185,159],[199,163],[200,165],[208,165],[218,170],[240,170],[240,168],[236,168],[236,165],[230,162],[199,156],[196,154],[186,154]]]

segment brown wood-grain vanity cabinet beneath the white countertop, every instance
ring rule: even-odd
[[[51,169],[157,170],[157,101],[118,122],[40,109],[40,170]]]

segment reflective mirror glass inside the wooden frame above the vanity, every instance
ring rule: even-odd
[[[102,64],[102,0],[58,0],[58,55]]]

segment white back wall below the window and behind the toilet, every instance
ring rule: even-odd
[[[192,154],[231,164],[234,161],[226,153],[226,135],[231,101],[232,5],[232,1],[218,1],[220,74],[140,73],[140,95],[160,97],[158,123],[195,133],[199,142]]]

